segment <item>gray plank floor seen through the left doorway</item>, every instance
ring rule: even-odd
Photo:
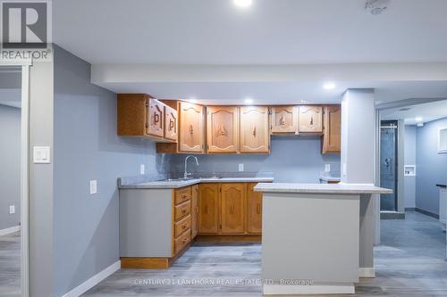
[[[21,233],[0,236],[0,296],[21,295]]]

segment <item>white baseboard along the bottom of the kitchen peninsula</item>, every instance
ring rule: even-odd
[[[265,295],[291,295],[291,294],[353,294],[356,293],[352,285],[263,285]]]

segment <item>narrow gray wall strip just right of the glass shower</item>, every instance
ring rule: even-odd
[[[405,126],[405,165],[416,165],[416,126]],[[416,207],[416,177],[403,177],[405,208]]]

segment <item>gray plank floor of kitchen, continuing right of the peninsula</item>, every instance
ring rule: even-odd
[[[408,212],[405,220],[386,219],[381,225],[376,277],[361,279],[355,295],[447,296],[445,233],[439,222]],[[172,268],[121,269],[83,296],[260,296],[260,276],[260,244],[195,243]]]

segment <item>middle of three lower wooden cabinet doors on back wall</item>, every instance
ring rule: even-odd
[[[245,185],[221,185],[221,233],[242,234],[245,232]]]

